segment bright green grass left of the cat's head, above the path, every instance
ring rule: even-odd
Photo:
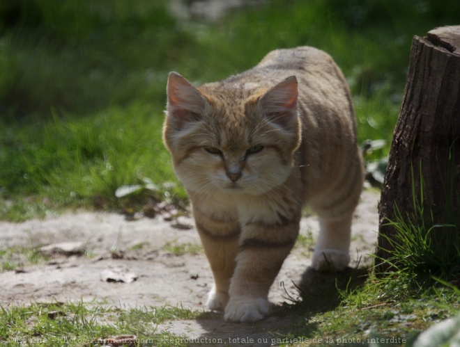
[[[62,207],[116,208],[116,188],[144,177],[176,181],[160,142],[162,119],[149,105],[109,108],[92,118],[18,129],[3,159],[3,218],[43,216]],[[144,133],[138,129],[150,129]],[[180,189],[176,194],[183,196]],[[181,195],[182,194],[182,195]]]

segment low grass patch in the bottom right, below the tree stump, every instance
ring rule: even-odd
[[[382,280],[347,271],[307,277],[308,289],[278,312],[292,322],[290,333],[274,332],[280,346],[412,346],[420,332],[460,312],[459,290],[443,284],[416,294],[401,276]]]

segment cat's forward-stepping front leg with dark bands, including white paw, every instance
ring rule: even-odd
[[[298,235],[298,220],[245,223],[225,320],[259,321],[270,313],[268,290]]]

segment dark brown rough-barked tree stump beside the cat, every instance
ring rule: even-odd
[[[390,267],[385,263],[390,257],[386,250],[392,250],[390,240],[397,230],[388,221],[395,220],[395,207],[401,216],[410,218],[413,198],[423,199],[434,223],[450,223],[445,219],[452,213],[460,215],[459,194],[460,26],[445,26],[429,31],[426,38],[413,38],[378,206],[377,271]]]

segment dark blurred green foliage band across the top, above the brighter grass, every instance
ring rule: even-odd
[[[176,19],[165,1],[5,0],[1,118],[162,104],[164,72],[207,81],[298,45],[332,54],[358,95],[385,83],[400,92],[412,35],[458,23],[459,13],[459,1],[267,1],[203,24]]]

